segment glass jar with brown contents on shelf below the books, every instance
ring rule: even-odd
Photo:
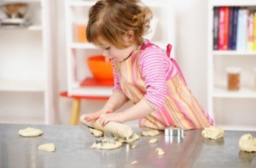
[[[239,67],[227,67],[227,80],[228,80],[228,90],[237,91],[240,89],[240,78],[241,78],[241,68]]]

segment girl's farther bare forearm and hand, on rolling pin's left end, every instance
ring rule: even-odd
[[[125,94],[120,91],[114,91],[113,94],[108,98],[108,102],[104,105],[104,107],[95,113],[91,113],[84,116],[84,120],[96,120],[102,114],[113,113],[114,110],[119,109],[123,104],[128,101],[128,98],[125,97]]]

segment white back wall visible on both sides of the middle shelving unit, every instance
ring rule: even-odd
[[[181,65],[183,75],[190,89],[201,105],[207,109],[207,1],[204,0],[172,0],[176,15],[176,57]],[[59,91],[67,89],[67,60],[65,43],[64,3],[57,3],[56,33],[58,56]],[[167,26],[167,25],[166,25]],[[104,102],[83,101],[82,113],[90,113],[100,109]],[[59,98],[60,124],[68,124],[72,101]],[[129,106],[131,104],[128,104]]]

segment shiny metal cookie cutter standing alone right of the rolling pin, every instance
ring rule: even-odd
[[[165,129],[166,143],[183,143],[184,130],[181,128],[169,127]]]

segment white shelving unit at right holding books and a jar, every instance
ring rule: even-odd
[[[218,51],[212,48],[213,8],[252,7],[254,0],[209,0],[208,3],[208,111],[215,124],[227,130],[256,130],[256,90],[253,89],[253,67],[256,52]],[[241,67],[241,88],[228,91],[225,68]]]

